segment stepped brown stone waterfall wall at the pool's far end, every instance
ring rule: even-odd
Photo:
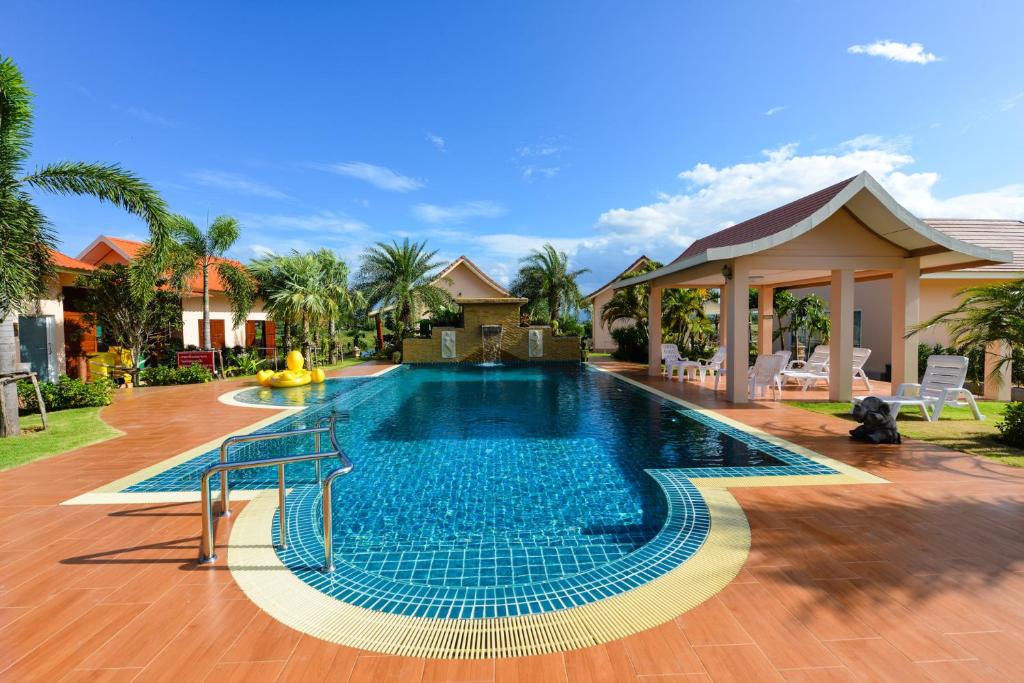
[[[556,336],[546,325],[524,325],[521,308],[527,302],[516,297],[456,299],[462,326],[436,326],[429,338],[406,339],[402,362],[579,362],[580,337]]]

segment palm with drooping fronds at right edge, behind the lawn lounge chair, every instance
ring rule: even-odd
[[[1013,360],[1013,348],[1024,346],[1024,280],[969,287],[956,293],[959,305],[913,328],[910,334],[944,325],[950,342],[962,352],[1002,345],[1010,352],[998,356],[993,378]],[[908,335],[909,336],[909,335]]]

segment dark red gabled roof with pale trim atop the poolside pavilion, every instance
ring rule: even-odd
[[[1008,251],[957,240],[904,209],[863,171],[777,209],[719,230],[690,245],[669,265],[636,278],[614,283],[615,289],[630,287],[689,270],[711,262],[750,256],[778,247],[809,232],[841,211],[848,212],[864,228],[899,249],[921,259],[922,272],[1004,263],[1012,260]],[[827,263],[808,266],[827,270]],[[813,268],[808,268],[813,269]],[[776,281],[779,282],[779,281]]]

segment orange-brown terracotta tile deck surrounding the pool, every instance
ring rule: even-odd
[[[858,445],[828,416],[605,366],[892,483],[732,489],[753,535],[740,575],[625,640],[489,661],[383,656],[291,631],[222,565],[197,568],[197,504],[58,506],[268,415],[217,401],[239,383],[138,390],[103,411],[125,436],[0,473],[0,680],[1024,680],[1024,470]]]

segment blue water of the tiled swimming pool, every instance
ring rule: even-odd
[[[402,367],[237,399],[306,407],[275,431],[332,410],[347,417],[338,436],[355,469],[335,483],[339,569],[315,570],[322,515],[308,464],[288,470],[291,547],[282,559],[319,590],[400,613],[536,612],[586,602],[580,582],[626,590],[629,581],[612,577],[635,575],[641,559],[668,570],[702,543],[707,511],[690,478],[833,472],[579,365]],[[298,440],[243,446],[232,458],[309,449]],[[129,490],[195,489],[216,458]],[[274,476],[239,472],[232,487],[272,487]]]

